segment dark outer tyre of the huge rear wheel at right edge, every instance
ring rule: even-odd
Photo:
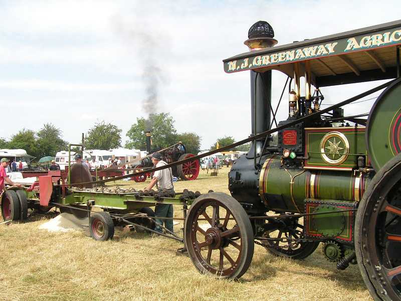
[[[391,300],[388,295],[383,296],[382,294],[379,294],[380,290],[383,290],[382,287],[377,287],[375,288],[375,285],[377,284],[377,281],[375,280],[370,280],[369,275],[372,275],[372,267],[366,263],[366,261],[363,260],[363,250],[362,250],[362,223],[363,223],[363,218],[365,217],[365,214],[368,214],[366,212],[366,207],[368,205],[368,202],[370,200],[370,197],[372,194],[374,194],[374,190],[377,187],[377,185],[382,181],[384,177],[386,177],[387,173],[389,173],[391,170],[394,169],[400,169],[401,168],[401,154],[398,154],[395,156],[393,159],[391,159],[389,162],[387,162],[378,172],[377,174],[373,177],[372,181],[370,182],[368,188],[366,189],[365,193],[363,194],[362,200],[359,203],[358,210],[356,212],[356,218],[355,218],[355,253],[356,253],[356,258],[359,266],[360,273],[362,275],[363,281],[366,284],[366,287],[368,288],[371,296],[373,297],[374,300],[377,301],[383,301],[383,300],[389,300],[389,301],[396,301],[396,300]],[[390,178],[393,177],[392,174],[389,175]],[[370,271],[369,271],[370,269]],[[398,299],[400,300],[401,297]]]

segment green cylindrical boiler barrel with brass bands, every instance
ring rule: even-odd
[[[281,168],[280,159],[270,160],[270,167],[266,168],[268,159],[260,178],[260,195],[270,210],[303,213],[307,198],[353,203],[360,200],[370,181],[369,177],[360,178],[360,174],[354,176],[351,171],[286,170]]]

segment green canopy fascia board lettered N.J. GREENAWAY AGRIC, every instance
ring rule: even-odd
[[[302,48],[292,48],[266,55],[249,56],[224,63],[227,73],[305,61],[318,57],[334,56],[370,48],[401,44],[401,28],[338,39]]]

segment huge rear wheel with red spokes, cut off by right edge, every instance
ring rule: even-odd
[[[401,154],[374,176],[359,204],[355,251],[375,300],[401,300]]]

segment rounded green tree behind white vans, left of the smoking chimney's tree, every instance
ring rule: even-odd
[[[120,147],[121,131],[116,125],[105,123],[104,120],[97,122],[89,129],[85,137],[85,148],[110,149]]]

